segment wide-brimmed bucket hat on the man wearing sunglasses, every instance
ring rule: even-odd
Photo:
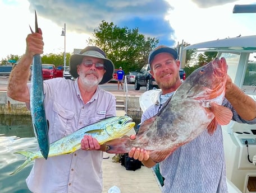
[[[96,46],[87,46],[81,50],[79,54],[74,54],[70,57],[70,74],[72,77],[77,78],[77,65],[80,65],[84,57],[100,58],[104,61],[104,69],[106,72],[103,75],[102,81],[99,84],[104,84],[113,78],[114,64],[111,60],[106,58],[104,51]]]

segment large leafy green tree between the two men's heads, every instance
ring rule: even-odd
[[[117,27],[113,22],[102,21],[87,43],[103,49],[116,69],[121,66],[125,72],[129,72],[148,63],[148,55],[159,40],[139,34],[138,27],[130,30]]]

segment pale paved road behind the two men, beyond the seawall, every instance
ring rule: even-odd
[[[8,84],[8,76],[0,76],[0,91],[6,91],[7,90],[7,84]],[[123,85],[124,86],[124,85]],[[125,94],[126,90],[117,90],[117,83],[110,82],[107,84],[103,84],[99,86],[100,88],[103,88],[104,90],[111,92],[113,94],[117,95],[123,95]],[[124,87],[125,88],[125,87]],[[139,91],[135,91],[134,84],[127,84],[127,91],[129,95],[141,95],[141,93],[144,93],[146,91],[146,87],[141,87]]]

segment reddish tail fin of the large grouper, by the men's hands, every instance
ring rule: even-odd
[[[128,153],[131,147],[127,145],[130,141],[129,136],[124,136],[122,138],[112,139],[104,145],[106,145],[106,152],[107,153]]]

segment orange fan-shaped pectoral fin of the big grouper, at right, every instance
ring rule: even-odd
[[[210,110],[213,112],[215,119],[220,125],[227,125],[232,119],[232,111],[227,107],[211,103]]]

